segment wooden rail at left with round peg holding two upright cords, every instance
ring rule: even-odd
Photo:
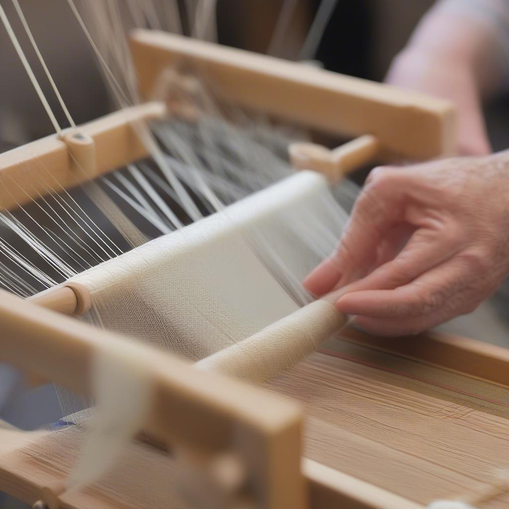
[[[0,154],[0,210],[15,209],[147,157],[136,123],[165,114],[163,103],[133,106]]]

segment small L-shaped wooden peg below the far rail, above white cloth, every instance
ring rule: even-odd
[[[354,169],[373,160],[378,150],[377,138],[364,134],[333,150],[315,143],[292,143],[288,154],[294,168],[311,169],[335,183]]]

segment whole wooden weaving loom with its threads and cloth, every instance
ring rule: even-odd
[[[507,351],[367,336],[300,286],[348,217],[345,175],[453,153],[450,106],[162,32],[130,44],[139,95],[159,102],[0,155],[3,224],[53,274],[0,238],[18,270],[2,262],[0,359],[59,384],[64,410],[46,430],[0,423],[0,490],[50,509],[506,507]],[[289,145],[275,121],[351,139]],[[20,219],[78,192],[125,252],[88,209],[69,209],[77,233],[43,223],[44,242]],[[164,235],[148,241],[111,196]]]

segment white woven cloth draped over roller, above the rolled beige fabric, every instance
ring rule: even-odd
[[[345,222],[325,179],[302,172],[73,280],[105,328],[198,360],[305,303],[300,281]]]

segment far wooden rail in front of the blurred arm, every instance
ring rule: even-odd
[[[133,32],[131,52],[147,99],[168,67],[191,69],[222,100],[335,135],[372,134],[398,158],[456,150],[455,111],[441,99],[158,31]]]

